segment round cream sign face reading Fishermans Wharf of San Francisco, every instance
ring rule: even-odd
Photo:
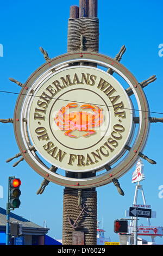
[[[42,76],[28,109],[36,150],[53,166],[72,172],[115,162],[133,134],[125,90],[97,68],[76,66]]]

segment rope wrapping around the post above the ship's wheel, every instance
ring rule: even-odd
[[[67,52],[80,50],[80,36],[84,36],[84,51],[98,52],[99,20],[97,17],[81,17],[68,20]]]

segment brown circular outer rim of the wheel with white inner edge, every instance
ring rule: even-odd
[[[17,145],[20,148],[22,156],[38,174],[46,178],[48,181],[52,181],[58,185],[71,187],[71,188],[91,188],[103,186],[112,181],[113,178],[120,178],[124,173],[127,173],[128,170],[134,166],[136,161],[139,159],[139,152],[143,150],[148,138],[149,132],[149,107],[145,94],[136,78],[131,74],[131,72],[126,69],[121,63],[118,63],[115,59],[112,59],[108,56],[105,56],[100,53],[93,52],[82,52],[83,57],[81,57],[81,52],[73,52],[73,53],[65,53],[61,56],[55,57],[53,59],[48,60],[47,63],[40,66],[33,74],[28,78],[27,82],[24,83],[24,87],[21,89],[21,93],[17,98],[15,111],[14,111],[14,132],[15,138],[17,141]],[[111,170],[111,172],[106,172],[104,174],[89,178],[89,179],[72,179],[68,177],[64,177],[57,173],[51,172],[48,167],[43,164],[33,151],[30,151],[29,147],[27,147],[27,143],[24,144],[21,138],[21,124],[23,120],[19,123],[20,118],[20,109],[23,102],[23,95],[27,93],[27,89],[29,87],[29,92],[32,88],[30,88],[30,84],[35,80],[36,77],[39,76],[43,71],[48,70],[49,66],[59,67],[61,65],[66,65],[66,63],[71,62],[79,62],[79,60],[85,60],[87,62],[99,63],[100,65],[104,65],[107,68],[111,68],[115,72],[118,72],[120,76],[123,75],[124,80],[128,82],[130,87],[133,89],[137,102],[139,102],[140,109],[140,127],[139,132],[137,133],[137,137],[134,141],[134,144],[129,151],[129,154],[126,156],[125,161],[118,164],[117,167]],[[135,86],[136,85],[136,86]],[[143,112],[141,112],[143,109]],[[35,156],[38,163],[36,164],[32,157]],[[39,167],[39,168],[38,168]]]

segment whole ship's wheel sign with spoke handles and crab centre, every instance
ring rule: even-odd
[[[10,78],[22,87],[14,119],[8,119],[20,148],[15,157],[22,156],[18,162],[26,160],[47,181],[72,188],[115,182],[139,157],[155,163],[141,153],[151,120],[142,88],[155,76],[139,83],[116,59],[93,52],[45,59],[26,83]],[[74,179],[58,168],[96,175]]]

